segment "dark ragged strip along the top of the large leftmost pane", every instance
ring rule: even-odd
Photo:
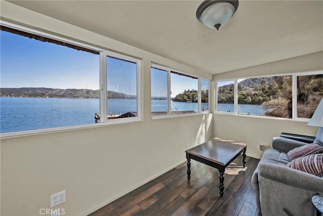
[[[76,45],[68,44],[67,42],[63,42],[63,41],[43,37],[43,36],[40,36],[40,35],[20,31],[20,30],[17,30],[17,29],[6,27],[6,26],[1,26],[0,30],[8,31],[8,32],[14,33],[14,34],[19,34],[21,36],[33,38],[33,39],[40,40],[40,41],[43,41],[43,42],[50,42],[52,44],[57,44],[57,45],[69,47],[69,48],[72,48],[72,49],[75,49],[75,50],[85,51],[85,52],[89,52],[89,53],[93,53],[93,54],[100,54],[100,52],[95,51],[95,50],[87,49],[87,48],[84,48],[84,47],[79,47],[79,46],[76,46]]]

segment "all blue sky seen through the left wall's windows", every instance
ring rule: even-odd
[[[0,31],[1,88],[99,89],[99,55]],[[136,64],[107,57],[107,90],[136,94]],[[164,71],[165,72],[165,71]],[[167,75],[152,74],[152,96],[167,96]],[[171,75],[171,97],[197,79]]]

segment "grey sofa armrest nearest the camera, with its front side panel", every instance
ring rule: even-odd
[[[258,164],[259,205],[262,216],[315,215],[311,198],[323,193],[323,179],[286,166]]]

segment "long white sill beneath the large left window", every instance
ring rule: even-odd
[[[95,127],[118,125],[118,124],[141,121],[140,117],[130,117],[130,118],[113,119],[113,120],[109,120],[108,122],[104,122],[104,123],[93,123],[93,124],[83,124],[83,125],[76,125],[76,126],[35,129],[35,130],[31,130],[31,131],[9,132],[9,133],[0,134],[0,139],[25,137],[25,136],[32,136],[32,135],[42,135],[42,134],[50,134],[50,133],[57,133],[57,132],[76,131],[78,129],[95,128]]]

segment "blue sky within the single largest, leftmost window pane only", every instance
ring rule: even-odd
[[[1,87],[99,89],[99,56],[1,31]]]

